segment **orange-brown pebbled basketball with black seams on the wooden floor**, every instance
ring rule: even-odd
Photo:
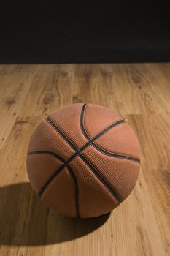
[[[117,113],[93,104],[58,109],[28,145],[28,178],[47,206],[70,217],[97,217],[131,193],[139,143]]]

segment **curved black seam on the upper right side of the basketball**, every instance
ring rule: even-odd
[[[85,130],[85,124],[84,124],[85,108],[86,108],[86,104],[84,104],[83,107],[82,107],[82,112],[81,112],[81,116],[80,116],[80,127],[82,129],[82,134],[85,136],[85,138],[88,141],[91,141],[90,137],[88,136],[88,133]],[[103,148],[101,148],[100,146],[96,145],[96,143],[93,143],[93,142],[90,142],[90,145],[93,146],[94,148],[96,148],[98,151],[101,151],[101,153],[106,154],[109,157],[116,157],[116,158],[120,158],[120,159],[128,159],[128,160],[140,163],[140,159],[138,159],[136,157],[130,157],[130,156],[127,156],[127,155],[124,155],[124,154],[116,154],[116,153],[106,151]]]

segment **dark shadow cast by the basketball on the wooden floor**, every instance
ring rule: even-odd
[[[56,214],[29,183],[0,187],[0,244],[38,246],[69,241],[93,232],[109,214],[77,219]]]

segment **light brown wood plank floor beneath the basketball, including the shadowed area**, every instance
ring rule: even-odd
[[[36,125],[76,102],[128,118],[141,146],[134,191],[96,219],[55,214],[26,173]],[[0,107],[1,256],[170,255],[170,64],[1,65]]]

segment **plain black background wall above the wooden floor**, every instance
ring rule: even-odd
[[[1,4],[1,64],[143,61],[170,61],[169,1]]]

